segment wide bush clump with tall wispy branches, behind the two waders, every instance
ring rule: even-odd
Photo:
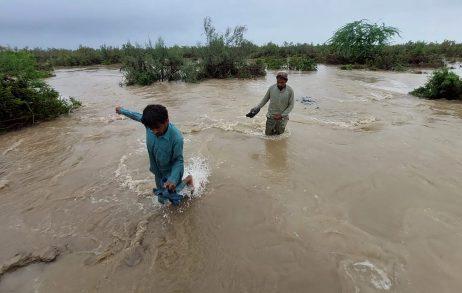
[[[245,27],[217,33],[210,18],[204,20],[206,44],[197,58],[186,59],[184,48],[127,43],[122,47],[122,72],[127,85],[149,85],[156,81],[198,82],[205,78],[252,78],[266,74],[264,64],[247,57],[252,45],[244,39]],[[192,57],[192,56],[191,56]]]

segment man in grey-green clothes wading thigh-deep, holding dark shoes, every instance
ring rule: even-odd
[[[270,86],[260,104],[250,110],[247,117],[254,117],[260,109],[270,101],[266,114],[266,135],[278,135],[284,133],[289,121],[289,113],[294,108],[294,91],[287,85],[287,73],[278,72],[277,83]]]

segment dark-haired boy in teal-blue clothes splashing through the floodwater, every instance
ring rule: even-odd
[[[162,190],[176,194],[185,185],[193,187],[193,178],[188,175],[184,180],[183,136],[169,121],[167,109],[162,105],[148,105],[143,114],[132,112],[117,106],[116,113],[122,114],[146,127],[146,146],[149,155],[149,170],[154,174],[156,195],[162,195]],[[159,192],[158,192],[159,191]],[[165,198],[167,199],[167,198]],[[170,199],[170,198],[168,198]],[[159,196],[159,201],[165,200]],[[172,203],[178,204],[175,200]]]

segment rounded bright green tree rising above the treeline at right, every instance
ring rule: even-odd
[[[354,21],[341,27],[329,39],[333,51],[348,63],[364,64],[377,57],[390,38],[399,35],[395,27]]]

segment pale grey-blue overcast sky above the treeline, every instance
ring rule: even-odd
[[[462,0],[0,0],[0,45],[99,47],[203,41],[210,16],[219,31],[245,25],[263,44],[323,43],[345,23],[369,19],[401,30],[409,40],[462,42]]]

